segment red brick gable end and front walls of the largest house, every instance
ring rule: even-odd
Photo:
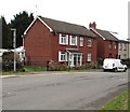
[[[49,60],[58,61],[58,52],[66,52],[66,48],[79,48],[83,53],[82,61],[87,62],[87,55],[92,53],[92,62],[96,61],[96,40],[92,39],[92,47],[88,47],[88,37],[83,38],[83,46],[61,45],[60,34],[50,30],[37,19],[25,36],[26,64],[31,66],[47,66]],[[69,39],[68,39],[69,43]]]

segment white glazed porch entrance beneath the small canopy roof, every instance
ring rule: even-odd
[[[81,54],[69,54],[69,66],[76,67],[81,66],[82,64],[82,55]]]

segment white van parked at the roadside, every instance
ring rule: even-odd
[[[127,66],[120,59],[106,58],[103,61],[103,70],[126,71]]]

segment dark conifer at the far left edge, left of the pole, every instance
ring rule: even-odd
[[[2,48],[12,48],[12,38],[10,26],[6,24],[5,18],[2,19]]]

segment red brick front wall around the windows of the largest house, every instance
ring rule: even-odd
[[[82,52],[82,61],[87,62],[87,55],[88,53],[92,53],[92,61],[96,61],[96,40],[92,39],[92,47],[88,47],[87,37],[83,38],[83,46],[79,46],[80,38],[78,37],[78,45],[69,45],[69,34],[68,34],[68,45],[61,45],[60,44],[60,34],[55,34],[52,38],[52,59],[57,61],[58,60],[58,52],[66,52],[66,48],[78,48]]]

